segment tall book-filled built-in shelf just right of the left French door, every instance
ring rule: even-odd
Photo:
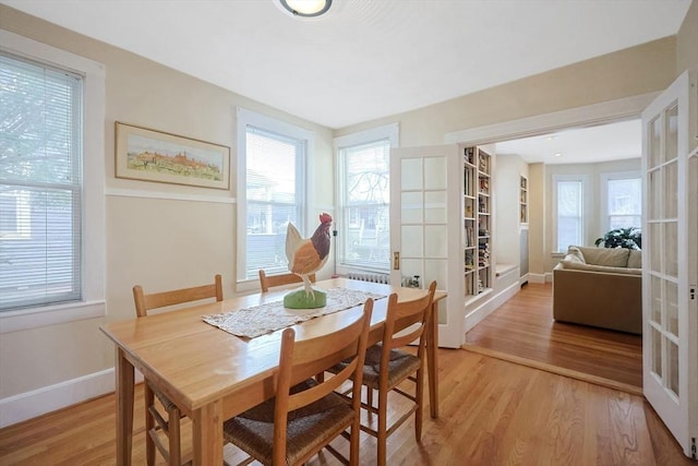
[[[492,286],[492,157],[480,147],[464,147],[464,277],[466,296]]]

